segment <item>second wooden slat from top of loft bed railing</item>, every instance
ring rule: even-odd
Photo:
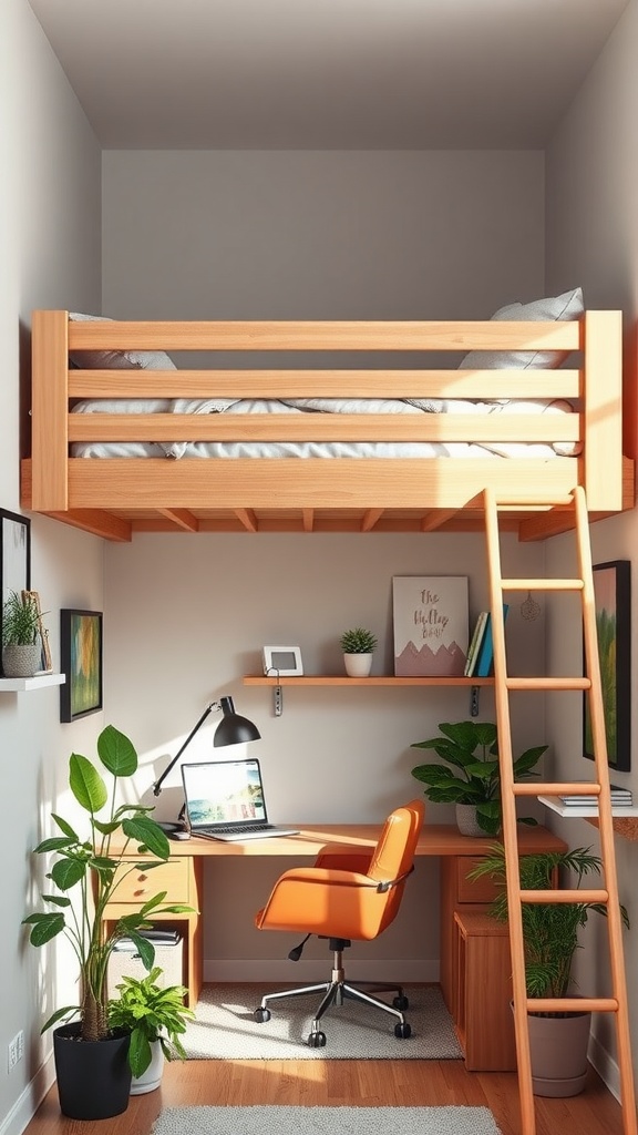
[[[70,370],[72,398],[577,398],[578,370]]]

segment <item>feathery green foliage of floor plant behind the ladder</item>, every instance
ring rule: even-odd
[[[580,888],[587,875],[599,875],[602,860],[590,848],[573,848],[566,851],[539,851],[519,859],[521,890],[545,891],[554,888],[556,872],[570,872],[576,876],[574,890]],[[507,920],[507,894],[505,891],[505,849],[495,843],[489,852],[469,873],[470,878],[489,876],[502,890],[489,908],[489,914],[498,922]],[[590,913],[606,915],[602,902],[523,902],[521,905],[523,948],[526,962],[526,987],[529,998],[563,998],[573,983],[572,965],[576,951],[580,949],[578,933],[587,924]],[[620,905],[622,922],[629,926],[629,916]],[[539,1016],[564,1016],[561,1012]]]

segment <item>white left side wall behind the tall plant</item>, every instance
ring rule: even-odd
[[[100,151],[26,0],[0,6],[0,507],[19,512],[20,386],[28,396],[28,327],[35,306],[100,302]],[[56,664],[58,611],[101,608],[101,541],[32,519],[32,586],[50,614]],[[56,785],[72,747],[91,751],[100,717],[59,724],[59,691],[0,693],[0,796],[5,866],[0,934],[0,1130],[23,1129],[50,1081],[43,1011],[70,994],[54,952],[26,944],[30,850],[49,831]],[[73,972],[75,976],[75,972]],[[7,1071],[7,1045],[25,1033],[25,1059]]]

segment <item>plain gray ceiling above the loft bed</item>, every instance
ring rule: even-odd
[[[629,0],[30,0],[104,149],[543,148]]]

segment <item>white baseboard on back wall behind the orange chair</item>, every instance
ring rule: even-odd
[[[207,959],[203,965],[204,982],[282,982],[284,985],[305,985],[322,982],[330,973],[330,958],[326,962],[311,958],[288,961],[272,958]],[[361,982],[403,982],[404,984],[438,981],[438,961],[358,961],[346,974]],[[0,1135],[2,1133],[0,1132]]]

